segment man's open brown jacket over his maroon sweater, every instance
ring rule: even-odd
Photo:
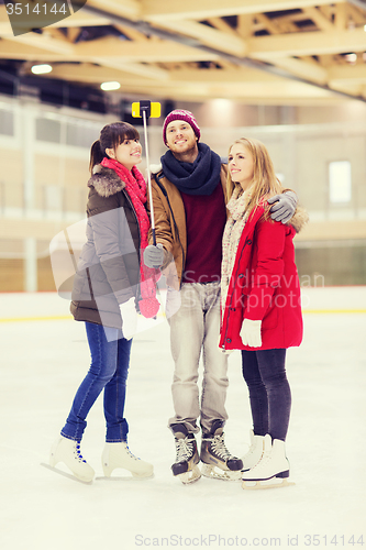
[[[226,165],[221,166],[221,184],[226,202]],[[180,191],[162,173],[152,176],[156,242],[167,251],[163,273],[168,286],[179,289],[187,257],[186,212]],[[149,244],[153,234],[149,230]],[[221,243],[220,243],[221,245]],[[171,256],[174,258],[171,260]]]

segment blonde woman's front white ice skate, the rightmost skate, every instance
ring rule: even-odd
[[[259,462],[243,473],[245,490],[276,488],[293,485],[288,482],[289,462],[286,458],[285,441],[274,439],[267,433],[264,438],[264,452]]]

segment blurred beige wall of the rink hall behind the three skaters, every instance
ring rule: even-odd
[[[284,185],[310,215],[296,238],[303,286],[366,284],[365,103],[247,107],[222,99],[175,107],[195,112],[202,141],[222,157],[240,136],[266,144]],[[55,289],[49,241],[85,217],[89,148],[112,120],[0,97],[1,292]],[[151,120],[152,163],[166,151],[163,120]],[[329,164],[336,161],[351,163],[352,188],[348,200],[334,204]]]

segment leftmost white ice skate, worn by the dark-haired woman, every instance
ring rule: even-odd
[[[90,483],[95,476],[93,469],[81,457],[79,441],[60,436],[54,442],[51,449],[49,466],[57,473],[67,475],[55,468],[59,462],[63,462],[73,472],[73,475],[84,483]]]

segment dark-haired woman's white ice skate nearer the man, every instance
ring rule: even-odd
[[[135,479],[146,479],[154,475],[154,466],[135,457],[126,442],[106,443],[102,453],[102,466],[106,477],[111,477],[113,470],[120,468],[131,472]]]

